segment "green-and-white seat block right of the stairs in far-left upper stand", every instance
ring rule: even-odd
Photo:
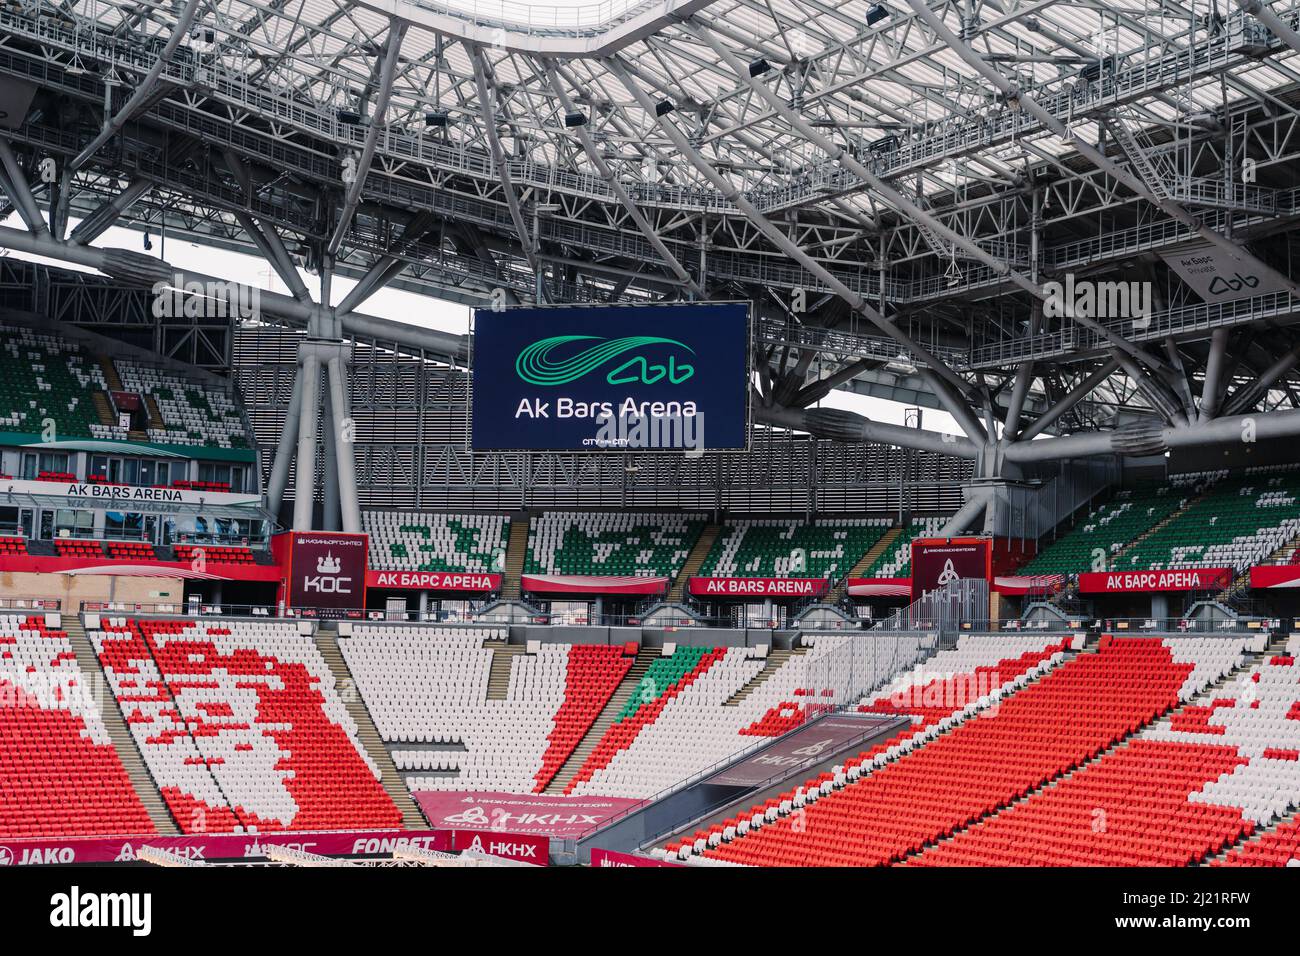
[[[116,359],[113,364],[127,392],[153,395],[157,402],[165,427],[150,428],[150,441],[222,449],[250,446],[243,415],[224,392],[131,359]]]

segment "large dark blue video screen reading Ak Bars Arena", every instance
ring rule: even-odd
[[[749,436],[744,303],[477,310],[476,451],[705,451]]]

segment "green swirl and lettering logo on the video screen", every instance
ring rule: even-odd
[[[573,342],[592,342],[575,355],[552,359],[556,350],[564,350]],[[647,362],[640,350],[651,345],[675,345],[694,355],[694,350],[675,338],[658,336],[627,336],[624,338],[599,338],[598,336],[555,336],[533,342],[515,359],[519,377],[530,385],[568,385],[584,378],[592,372],[618,362],[604,376],[610,385],[654,385],[667,378],[680,385],[696,373],[694,365],[679,363],[676,355],[670,355],[667,364]]]

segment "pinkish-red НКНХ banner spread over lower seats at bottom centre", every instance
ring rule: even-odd
[[[436,827],[463,826],[577,839],[636,806],[640,800],[499,791],[415,791],[424,816]]]

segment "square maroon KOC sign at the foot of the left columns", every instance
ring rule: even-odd
[[[285,606],[312,609],[322,618],[350,617],[365,607],[369,536],[333,531],[290,531],[272,540],[285,575]]]

